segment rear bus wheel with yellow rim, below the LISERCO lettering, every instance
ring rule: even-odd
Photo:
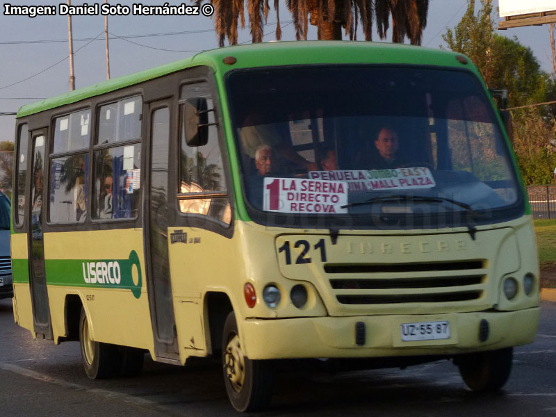
[[[111,377],[120,370],[122,355],[117,346],[92,340],[87,314],[83,308],[79,318],[79,344],[83,368],[91,379]]]

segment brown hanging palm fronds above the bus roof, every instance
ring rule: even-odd
[[[191,0],[200,6],[202,0]],[[215,8],[214,25],[218,44],[238,43],[238,21],[245,27],[245,6],[249,17],[252,42],[263,42],[263,22],[270,8],[268,0],[211,0]],[[386,38],[389,18],[392,17],[392,41],[404,42],[407,36],[412,44],[420,44],[423,28],[427,24],[429,0],[286,0],[293,17],[295,37],[306,40],[309,22],[317,26],[319,40],[341,40],[342,28],[350,40],[357,39],[359,20],[365,40],[373,39],[373,16],[381,39]],[[274,0],[277,16],[276,39],[281,38],[279,0]]]

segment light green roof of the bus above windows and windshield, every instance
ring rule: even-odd
[[[66,92],[56,97],[26,104],[19,108],[17,117],[24,117],[41,111],[76,103],[89,97],[119,90],[143,81],[156,79],[197,65],[207,65],[216,73],[248,67],[266,67],[303,64],[413,64],[463,67],[465,64],[455,59],[453,52],[427,49],[414,45],[391,44],[386,42],[350,41],[291,41],[265,42],[259,44],[235,45],[200,52],[190,58],[155,67],[150,70],[120,76],[115,79]],[[222,60],[234,56],[236,63],[227,65]],[[468,67],[475,68],[474,65]],[[476,71],[476,70],[475,70]]]

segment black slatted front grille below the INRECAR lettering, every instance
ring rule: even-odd
[[[430,263],[327,264],[341,304],[451,303],[477,300],[486,291],[482,259]]]

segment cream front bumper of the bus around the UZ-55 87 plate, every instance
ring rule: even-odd
[[[480,341],[480,322],[489,334]],[[402,342],[406,322],[448,320],[449,339]],[[356,323],[365,324],[365,342],[356,344]],[[361,358],[450,355],[531,343],[539,326],[539,307],[518,311],[403,316],[315,317],[241,323],[243,347],[250,359]]]

